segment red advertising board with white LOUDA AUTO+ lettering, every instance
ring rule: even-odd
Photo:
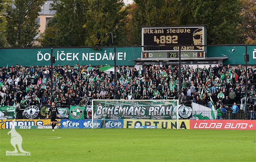
[[[256,120],[190,120],[190,129],[256,130]]]

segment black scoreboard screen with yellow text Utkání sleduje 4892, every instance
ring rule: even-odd
[[[143,51],[204,50],[204,37],[204,26],[142,27]]]

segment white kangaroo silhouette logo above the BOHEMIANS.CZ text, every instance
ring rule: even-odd
[[[15,120],[14,120],[15,121]],[[6,151],[6,153],[18,153],[18,150],[16,148],[16,145],[18,146],[19,148],[19,151],[22,152],[22,153],[30,153],[30,152],[27,152],[27,151],[24,151],[21,147],[21,144],[22,144],[22,136],[16,132],[15,130],[15,123],[13,121],[13,124],[12,124],[12,129],[11,131],[9,131],[7,134],[9,135],[11,133],[11,144],[12,146],[14,147],[14,151]]]

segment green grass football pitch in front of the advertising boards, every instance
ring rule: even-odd
[[[0,129],[1,162],[256,161],[256,131],[191,129],[16,129],[30,156]]]

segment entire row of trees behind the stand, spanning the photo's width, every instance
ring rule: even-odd
[[[0,0],[0,46],[31,47],[46,0]],[[42,46],[141,45],[141,26],[207,25],[207,44],[256,42],[254,0],[54,0]],[[15,6],[15,7],[12,7]]]

